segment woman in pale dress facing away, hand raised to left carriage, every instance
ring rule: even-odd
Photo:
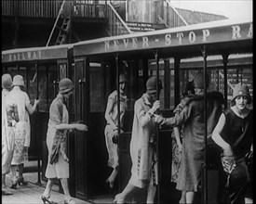
[[[16,189],[17,184],[27,185],[28,182],[23,178],[24,163],[28,161],[28,148],[30,147],[31,126],[29,115],[32,115],[39,103],[34,100],[34,106],[30,103],[30,98],[21,88],[25,86],[23,77],[16,75],[13,77],[14,88],[10,95],[15,97],[18,106],[20,121],[15,125],[15,140],[13,158],[11,161],[12,185],[11,188]],[[19,176],[16,175],[17,168]]]

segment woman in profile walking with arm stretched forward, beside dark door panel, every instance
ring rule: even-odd
[[[66,136],[68,131],[88,131],[88,126],[80,123],[69,123],[69,113],[67,110],[67,100],[73,94],[74,85],[70,79],[64,78],[59,83],[59,94],[52,101],[49,108],[49,121],[47,128],[47,186],[42,195],[44,203],[56,204],[50,199],[50,191],[53,179],[61,180],[64,191],[64,203],[74,203],[69,188],[69,159],[66,156]]]

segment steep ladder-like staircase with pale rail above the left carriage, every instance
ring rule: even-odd
[[[68,35],[68,33],[70,31],[70,27],[71,27],[71,17],[65,17],[65,18],[62,17],[63,7],[64,7],[65,3],[66,3],[66,0],[63,0],[63,2],[61,4],[61,8],[58,13],[58,16],[57,16],[55,23],[53,25],[53,28],[50,32],[46,46],[48,46],[53,41],[53,39],[52,39],[53,36],[56,36],[53,33],[57,29],[59,30],[59,32],[57,35],[57,40],[55,41],[54,45],[62,45],[66,42],[66,38],[67,38],[67,35]]]

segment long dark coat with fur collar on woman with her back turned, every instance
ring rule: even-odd
[[[223,96],[218,92],[207,94],[207,136],[211,136],[222,114]],[[182,163],[177,189],[198,191],[201,181],[202,162],[204,161],[204,95],[186,98],[181,111],[172,118],[164,119],[161,125],[171,127],[183,124]],[[216,156],[217,157],[217,156]]]

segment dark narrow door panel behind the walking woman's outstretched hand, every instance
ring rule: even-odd
[[[86,57],[74,60],[74,121],[86,123],[89,128],[89,66]],[[88,198],[87,144],[89,132],[75,131],[74,180],[75,197]]]

